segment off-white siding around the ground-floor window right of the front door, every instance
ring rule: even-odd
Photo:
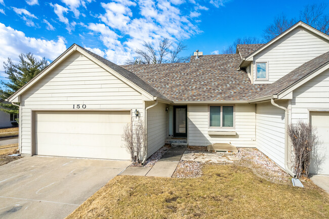
[[[209,128],[208,105],[188,105],[188,144],[207,146],[214,143],[231,143],[237,147],[255,147],[255,105],[237,104],[234,111],[234,128]],[[209,136],[209,130],[233,130],[236,136]]]

